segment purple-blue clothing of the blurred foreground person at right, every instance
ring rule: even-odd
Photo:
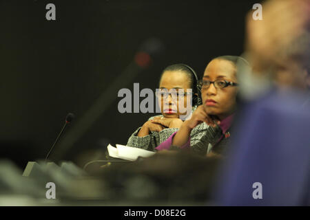
[[[310,109],[297,109],[302,101],[273,94],[242,109],[219,180],[219,205],[310,205]],[[262,199],[254,199],[257,183]]]

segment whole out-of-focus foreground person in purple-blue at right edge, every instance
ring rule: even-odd
[[[243,104],[229,160],[218,179],[220,206],[310,206],[310,1],[267,1],[247,17]]]

